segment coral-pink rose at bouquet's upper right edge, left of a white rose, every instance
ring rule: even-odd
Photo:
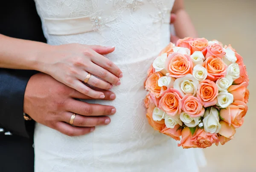
[[[215,43],[211,46],[207,47],[207,53],[205,58],[207,57],[219,57],[222,59],[222,57],[226,54],[226,52],[224,51],[224,49],[222,48],[222,46],[218,43]]]

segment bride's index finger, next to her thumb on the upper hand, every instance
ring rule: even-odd
[[[117,67],[111,60],[108,58],[104,57],[101,54],[98,54],[97,52],[93,51],[93,58],[91,59],[93,63],[97,64],[98,66],[101,66],[102,68],[108,70],[111,72],[113,75],[116,77],[121,78],[122,71]]]

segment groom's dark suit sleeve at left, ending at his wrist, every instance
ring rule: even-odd
[[[23,100],[29,78],[35,72],[0,68],[0,127],[29,137],[34,121],[23,118]]]

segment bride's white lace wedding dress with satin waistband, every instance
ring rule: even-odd
[[[35,172],[198,172],[201,149],[182,149],[149,126],[143,100],[147,70],[170,38],[174,0],[35,0],[51,45],[115,46],[111,59],[123,72],[113,87],[116,107],[107,126],[68,137],[35,127]]]

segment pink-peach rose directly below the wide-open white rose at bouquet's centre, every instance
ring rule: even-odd
[[[189,114],[192,118],[200,117],[204,115],[204,107],[197,97],[186,94],[182,100],[182,110]]]

